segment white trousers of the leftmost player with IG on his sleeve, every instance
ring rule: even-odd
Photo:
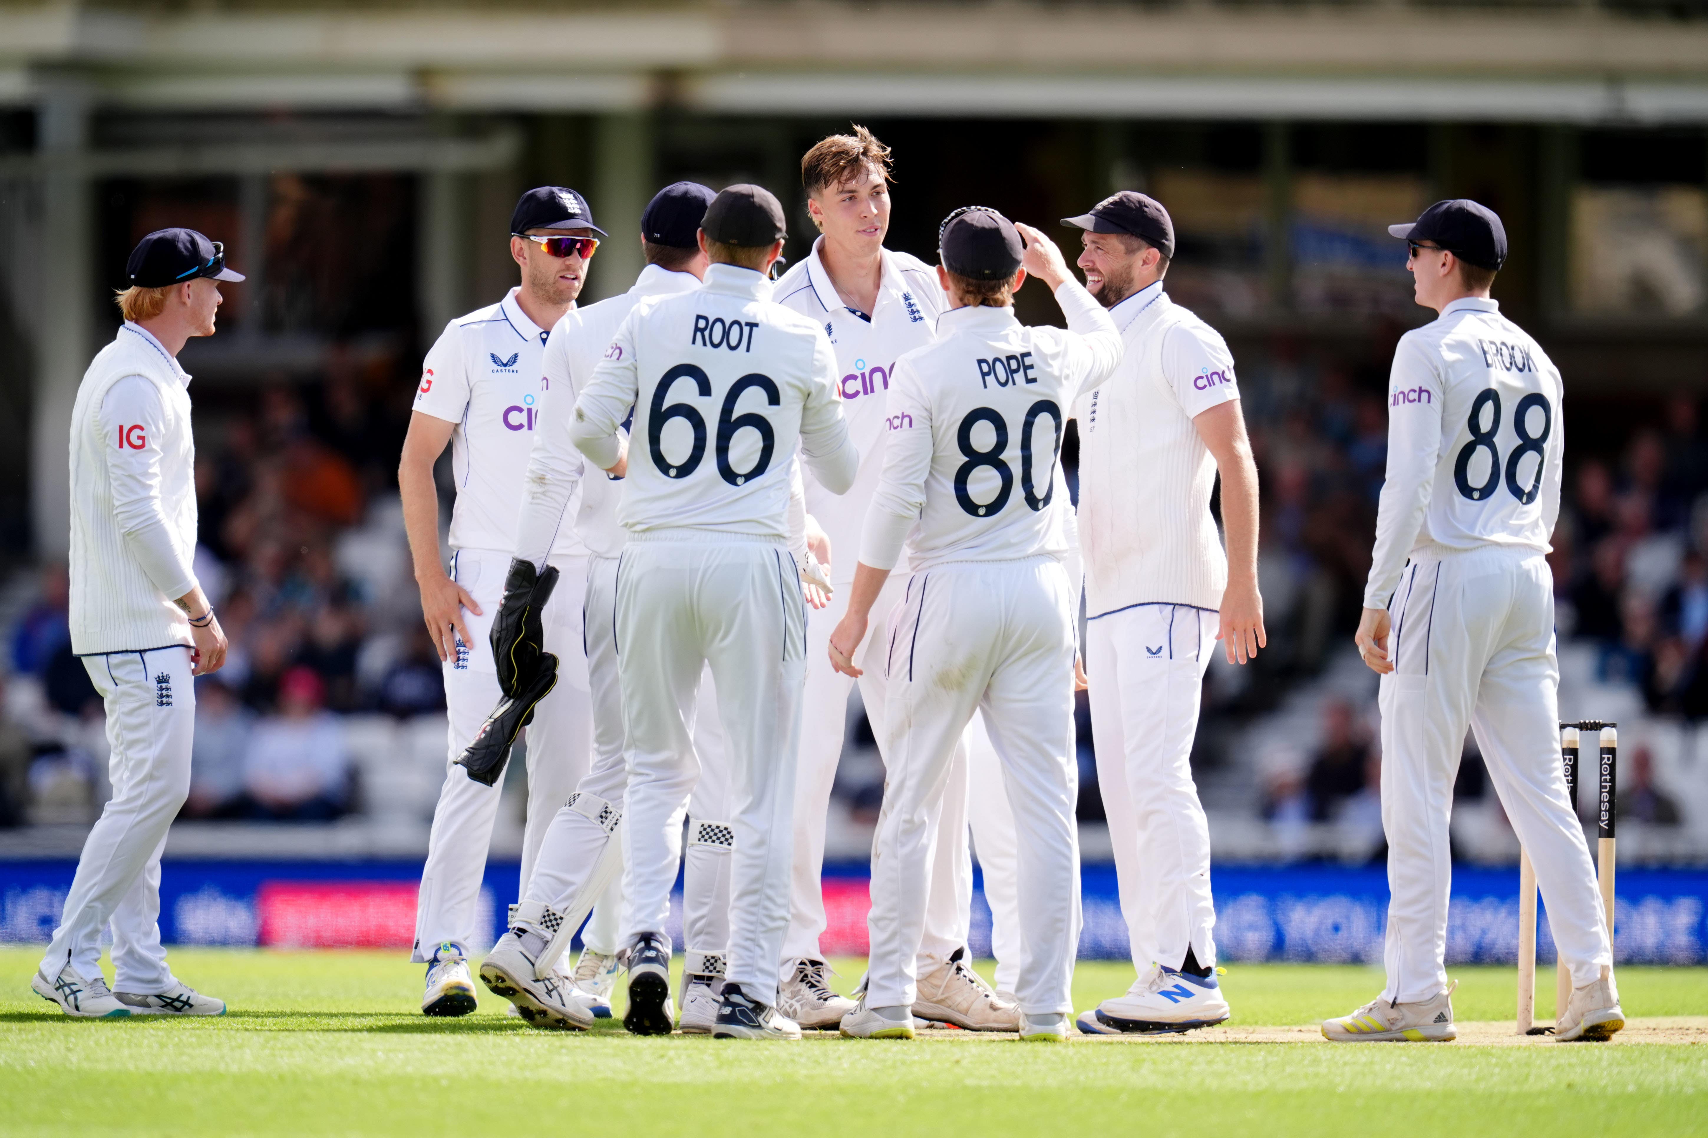
[[[113,990],[155,993],[173,983],[161,945],[161,851],[190,795],[196,725],[190,667],[184,647],[84,657],[106,706],[113,797],[84,839],[60,926],[41,961],[48,979],[67,962],[79,976],[99,976],[101,930],[111,921]]]

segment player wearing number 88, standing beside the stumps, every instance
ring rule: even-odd
[[[1336,1042],[1454,1039],[1447,983],[1447,824],[1476,732],[1530,853],[1571,1000],[1556,1039],[1624,1027],[1583,827],[1559,764],[1559,667],[1549,537],[1559,517],[1559,370],[1489,299],[1506,230],[1469,200],[1389,232],[1409,246],[1418,304],[1389,380],[1389,459],[1358,652],[1382,676],[1382,829],[1389,841],[1387,986],[1322,1024]]]

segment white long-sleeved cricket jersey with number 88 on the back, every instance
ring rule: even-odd
[[[1401,336],[1365,607],[1387,607],[1413,551],[1549,551],[1566,447],[1561,394],[1559,369],[1494,300],[1454,300]]]

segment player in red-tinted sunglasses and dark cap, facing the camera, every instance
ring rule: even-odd
[[[581,295],[588,259],[603,235],[574,189],[540,186],[521,196],[511,215],[511,258],[521,270],[521,285],[499,304],[446,326],[422,365],[403,442],[398,467],[403,522],[422,618],[444,662],[451,720],[446,778],[415,913],[413,961],[427,966],[422,996],[427,1015],[475,1010],[468,955],[490,935],[477,928],[477,920],[502,783],[478,783],[454,759],[499,703],[488,630],[516,548],[523,476],[543,391],[541,357],[550,329]],[[456,481],[449,572],[439,563],[439,493],[432,478],[446,444]],[[562,585],[543,614],[545,640],[560,669],[557,686],[538,703],[528,729],[523,887],[547,824],[588,773],[591,746],[591,696],[581,648],[588,548],[574,527],[557,531],[548,560],[559,566]]]

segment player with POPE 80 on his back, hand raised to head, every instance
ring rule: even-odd
[[[859,676],[852,653],[907,543],[905,599],[874,662],[890,682],[871,962],[842,1034],[914,1034],[931,814],[960,735],[982,708],[1023,843],[1020,1034],[1066,1039],[1079,940],[1076,590],[1050,548],[1059,529],[1049,507],[1068,411],[1114,370],[1120,336],[1061,251],[994,210],[950,215],[939,256],[951,307],[938,341],[904,355],[892,379],[883,479],[847,614],[830,635],[830,660]],[[1071,331],[1015,319],[1013,290],[1027,271],[1056,293]]]

